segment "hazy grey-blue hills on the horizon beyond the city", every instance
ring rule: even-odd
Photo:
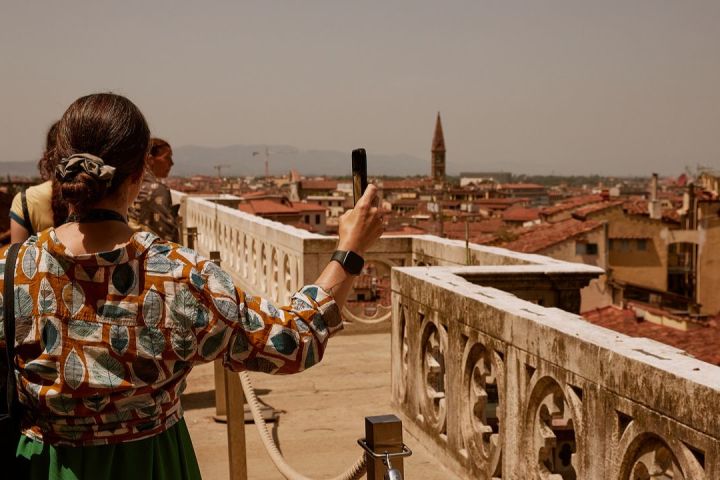
[[[299,150],[290,145],[268,145],[270,174],[284,175],[295,169],[303,175],[350,175],[350,152],[336,150]],[[253,152],[260,152],[254,155]],[[229,145],[202,147],[185,145],[175,148],[172,174],[216,175],[214,165],[227,176],[255,176],[265,172],[264,145]],[[430,160],[411,155],[385,155],[368,152],[370,175],[411,176],[427,174]],[[37,176],[35,162],[0,162],[0,176]]]

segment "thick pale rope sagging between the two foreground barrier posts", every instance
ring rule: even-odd
[[[242,384],[243,391],[245,392],[245,398],[248,405],[250,405],[250,412],[252,412],[255,426],[257,427],[260,439],[267,450],[270,459],[272,459],[275,467],[278,471],[288,480],[312,480],[306,477],[292,468],[286,461],[285,458],[278,450],[277,445],[273,441],[272,433],[265,423],[265,419],[262,416],[260,401],[255,394],[252,383],[250,382],[250,375],[247,372],[240,373],[240,383]],[[365,474],[365,455],[363,454],[348,470],[333,477],[331,480],[359,480]]]

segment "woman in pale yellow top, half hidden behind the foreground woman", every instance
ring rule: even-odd
[[[31,235],[46,228],[57,227],[65,223],[68,211],[60,196],[60,187],[55,177],[55,122],[48,130],[45,139],[45,152],[38,162],[40,177],[45,182],[28,188],[15,195],[10,207],[10,242],[25,241]]]

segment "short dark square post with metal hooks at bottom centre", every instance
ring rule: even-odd
[[[378,415],[365,417],[365,442],[376,454],[400,453],[403,451],[402,422],[395,415]],[[385,465],[381,458],[373,458],[365,454],[367,464],[367,480],[383,480]],[[393,468],[397,469],[403,477],[403,459],[393,458]]]

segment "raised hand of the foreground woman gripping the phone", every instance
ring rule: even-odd
[[[362,255],[380,238],[384,228],[382,211],[377,204],[377,187],[370,184],[355,208],[340,217],[338,250],[351,250]]]

